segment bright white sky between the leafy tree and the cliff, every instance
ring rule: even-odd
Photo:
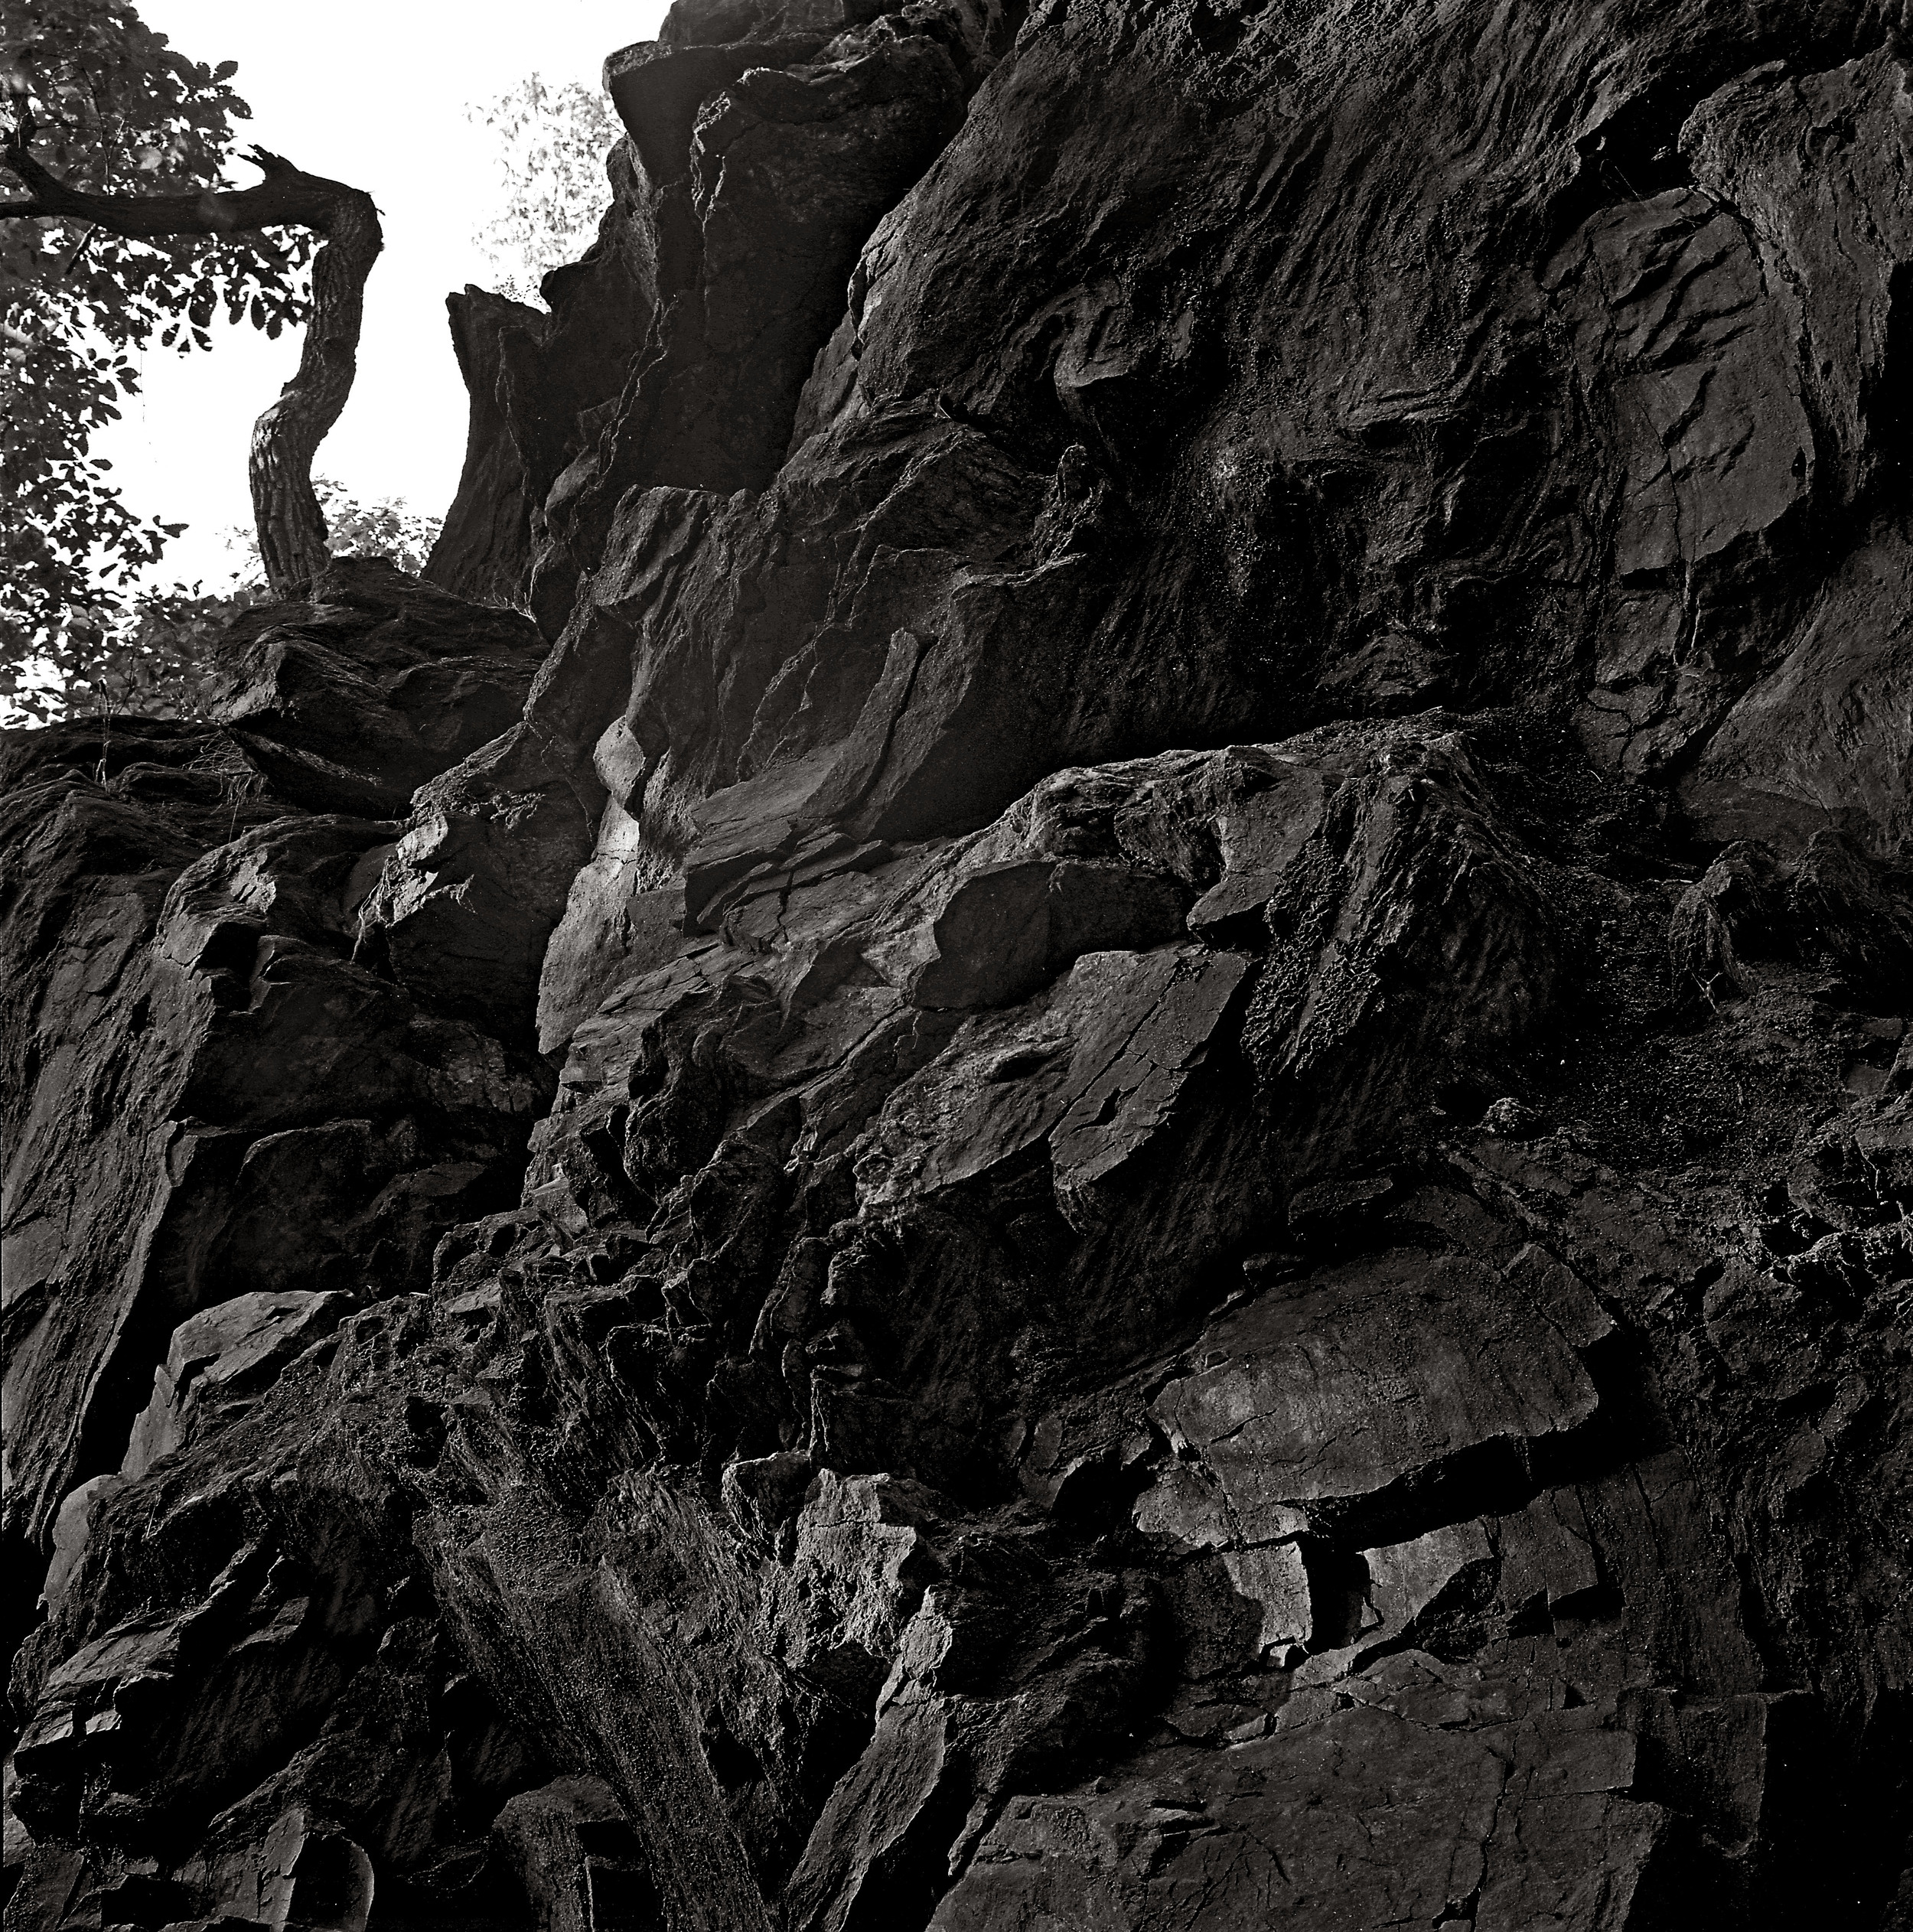
[[[502,199],[491,135],[466,120],[528,73],[597,85],[614,46],[657,35],[667,0],[139,0],[180,52],[236,60],[247,141],[379,203],[385,253],[365,290],[359,377],[315,469],[361,500],[404,497],[439,516],[466,448],[466,390],[444,298],[491,269],[473,242]],[[234,180],[257,174],[234,164]],[[609,197],[609,191],[607,191]],[[224,587],[224,533],[251,524],[253,417],[292,375],[292,334],[214,323],[211,355],[145,357],[143,394],[95,440],[128,502],[191,527],[157,578]]]

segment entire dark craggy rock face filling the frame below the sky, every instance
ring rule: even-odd
[[[613,54],[431,582],[8,736],[8,1932],[1905,1924],[1907,62]]]

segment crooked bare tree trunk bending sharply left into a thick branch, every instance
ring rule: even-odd
[[[313,313],[294,379],[253,425],[249,464],[253,520],[267,582],[280,597],[305,591],[325,566],[325,518],[313,495],[313,454],[338,421],[359,361],[365,276],[385,236],[371,195],[305,174],[282,155],[249,149],[265,174],[257,187],[187,195],[89,195],[48,174],[29,153],[33,122],[19,114],[4,162],[33,193],[0,201],[12,214],[77,214],[120,236],[236,234],[251,228],[309,228],[325,238],[313,257]]]

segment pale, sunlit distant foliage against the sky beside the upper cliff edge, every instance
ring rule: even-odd
[[[504,209],[475,236],[499,290],[539,299],[547,270],[576,261],[605,213],[605,156],[624,133],[616,110],[580,81],[549,87],[537,73],[471,120],[499,135]]]

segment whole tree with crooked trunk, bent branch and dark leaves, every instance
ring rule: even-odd
[[[87,440],[137,386],[128,350],[155,336],[209,348],[220,303],[269,334],[307,325],[296,375],[253,431],[249,473],[269,585],[284,597],[309,582],[327,558],[313,452],[352,392],[383,236],[363,189],[265,149],[247,153],[257,185],[216,185],[232,120],[247,116],[226,85],[234,64],[186,60],[126,0],[0,0],[0,25],[12,95],[0,166],[25,189],[0,201],[0,668],[12,696],[27,659],[58,655],[71,612],[95,614],[102,562],[126,583],[180,529],[141,526]]]

